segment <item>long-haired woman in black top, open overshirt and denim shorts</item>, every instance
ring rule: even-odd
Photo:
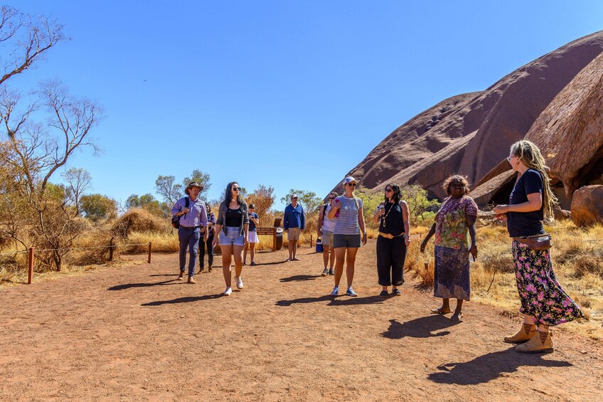
[[[238,289],[243,288],[241,271],[243,268],[243,249],[247,244],[249,231],[249,212],[247,203],[240,196],[241,188],[236,181],[228,183],[224,194],[224,201],[218,209],[218,219],[215,221],[215,234],[212,245],[218,243],[222,250],[222,273],[226,282],[225,296],[233,292],[230,273],[231,255],[235,255],[235,282]]]

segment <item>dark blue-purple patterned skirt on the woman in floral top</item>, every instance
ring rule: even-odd
[[[469,251],[435,246],[434,296],[469,300]]]

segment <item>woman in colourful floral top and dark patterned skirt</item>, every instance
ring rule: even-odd
[[[463,301],[469,300],[469,254],[475,260],[475,220],[477,204],[470,196],[469,183],[463,176],[450,176],[442,186],[446,194],[442,208],[435,216],[432,228],[421,243],[421,253],[435,234],[434,296],[442,297],[442,307],[432,310],[432,314],[448,314],[450,299],[457,299],[457,308],[452,314],[453,321],[463,316]]]

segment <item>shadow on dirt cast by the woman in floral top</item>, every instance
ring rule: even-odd
[[[443,337],[450,332],[438,331],[459,323],[460,321],[452,321],[448,317],[439,314],[428,315],[407,322],[397,322],[395,319],[390,319],[390,327],[383,332],[383,337],[390,339]]]

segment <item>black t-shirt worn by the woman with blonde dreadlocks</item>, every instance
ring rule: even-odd
[[[528,202],[528,194],[543,194],[543,179],[538,171],[528,169],[511,191],[509,205]],[[533,236],[545,233],[543,228],[544,203],[538,211],[508,212],[507,230],[511,237]]]

